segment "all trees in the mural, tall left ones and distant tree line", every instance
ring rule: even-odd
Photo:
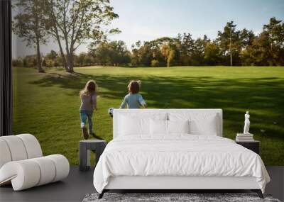
[[[183,33],[174,38],[137,41],[128,50],[124,41],[108,40],[108,35],[119,33],[118,29],[102,28],[119,17],[109,0],[18,0],[16,6],[26,9],[15,16],[13,31],[34,46],[37,54],[13,60],[13,65],[37,66],[39,72],[43,67],[59,66],[73,72],[74,66],[90,65],[284,65],[284,23],[274,17],[258,35],[246,28],[238,30],[230,21],[214,40],[207,35],[194,39],[190,33]],[[59,52],[52,50],[43,56],[40,44],[47,44],[50,38],[57,41]],[[87,52],[75,54],[86,40],[92,40]]]

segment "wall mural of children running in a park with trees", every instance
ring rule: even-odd
[[[261,141],[263,162],[283,165],[284,16],[277,5],[256,30],[256,10],[244,13],[247,23],[208,10],[204,23],[192,9],[141,4],[13,1],[13,134],[31,133],[44,155],[60,153],[78,164],[87,120],[92,118],[89,138],[110,141],[109,113],[134,88],[129,82],[139,81],[148,108],[222,108],[225,138],[243,132],[249,111],[249,133]],[[209,4],[204,10],[214,3]],[[225,10],[226,5],[216,12]],[[214,22],[214,31],[207,31]],[[84,109],[81,103],[87,103]]]

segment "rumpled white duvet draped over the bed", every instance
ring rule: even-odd
[[[110,176],[254,176],[270,181],[261,157],[233,140],[210,135],[139,135],[111,140],[94,170],[99,192]]]

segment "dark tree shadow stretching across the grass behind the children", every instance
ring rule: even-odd
[[[141,79],[141,94],[150,108],[222,108],[226,128],[239,130],[245,111],[251,112],[251,132],[266,130],[270,136],[284,138],[284,80],[277,77],[255,79],[216,79],[214,77],[126,77],[102,74],[52,73],[31,84],[72,89],[74,96],[89,79],[99,84],[100,96],[122,100],[131,79]],[[273,122],[278,125],[273,125]],[[226,133],[226,131],[224,131]],[[234,134],[235,135],[235,134]],[[262,134],[263,135],[263,134]]]

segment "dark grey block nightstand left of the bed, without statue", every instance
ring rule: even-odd
[[[79,143],[80,152],[80,171],[89,170],[90,166],[90,150],[96,153],[96,164],[99,161],[99,157],[104,152],[104,148],[107,146],[105,140],[81,140]]]

